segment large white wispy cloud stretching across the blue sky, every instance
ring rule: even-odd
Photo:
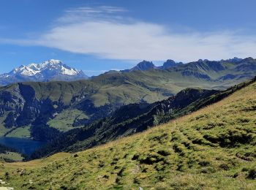
[[[187,62],[198,58],[256,56],[256,35],[245,36],[235,31],[178,33],[171,26],[125,18],[122,13],[126,11],[107,6],[69,9],[56,20],[56,26],[37,39],[6,42],[122,60],[172,58]]]

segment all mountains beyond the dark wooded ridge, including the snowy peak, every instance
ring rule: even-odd
[[[56,75],[49,74],[53,71]],[[46,77],[46,73],[53,77]],[[25,81],[37,81],[35,76],[41,75],[45,76],[41,81],[84,77],[83,72],[53,60],[10,72],[19,81],[24,77],[18,76],[24,74]],[[198,60],[189,64],[169,60],[163,66],[143,61],[130,70],[107,72],[88,80],[13,83],[0,88],[0,136],[26,134],[50,140],[59,131],[88,125],[127,104],[159,102],[185,88],[225,90],[255,75],[254,58]],[[4,81],[6,84],[7,80]]]

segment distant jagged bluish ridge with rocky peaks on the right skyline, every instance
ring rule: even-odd
[[[165,70],[168,72],[179,73],[182,76],[197,77],[202,80],[243,80],[252,78],[256,72],[256,61],[254,58],[230,58],[220,61],[209,61],[208,59],[193,61],[188,64],[175,62],[171,59],[165,61],[162,66],[155,66],[151,61],[141,61],[131,69],[121,71],[109,71],[105,74],[113,75],[129,72],[153,72]],[[177,76],[179,77],[179,76]]]

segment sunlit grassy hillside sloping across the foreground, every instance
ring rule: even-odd
[[[191,115],[73,155],[3,164],[16,189],[255,189],[256,83]]]

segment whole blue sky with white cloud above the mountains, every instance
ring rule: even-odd
[[[256,57],[253,0],[1,0],[0,73],[50,58],[98,75],[146,59]]]

